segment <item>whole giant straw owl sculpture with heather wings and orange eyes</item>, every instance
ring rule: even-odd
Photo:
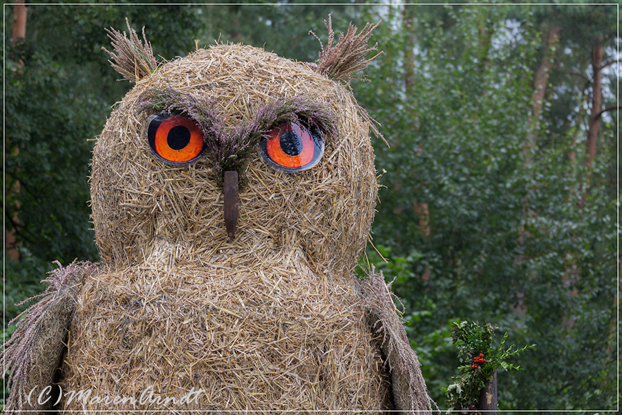
[[[50,273],[6,344],[6,409],[431,412],[381,275],[355,276],[377,198],[348,88],[375,26],[329,31],[314,64],[241,44],[157,62],[97,137],[99,264]]]

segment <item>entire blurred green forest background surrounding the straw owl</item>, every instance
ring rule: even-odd
[[[104,28],[127,17],[167,59],[220,39],[313,62],[308,30],[326,42],[329,13],[337,31],[382,20],[371,82],[352,82],[390,143],[374,141],[386,172],[367,255],[396,278],[429,394],[444,407],[458,375],[451,322],[477,320],[537,344],[513,361],[524,371],[499,374],[500,409],[616,409],[618,4],[32,5],[25,33],[15,10],[4,6],[5,324],[51,261],[98,259],[88,162],[131,88],[115,81]]]

